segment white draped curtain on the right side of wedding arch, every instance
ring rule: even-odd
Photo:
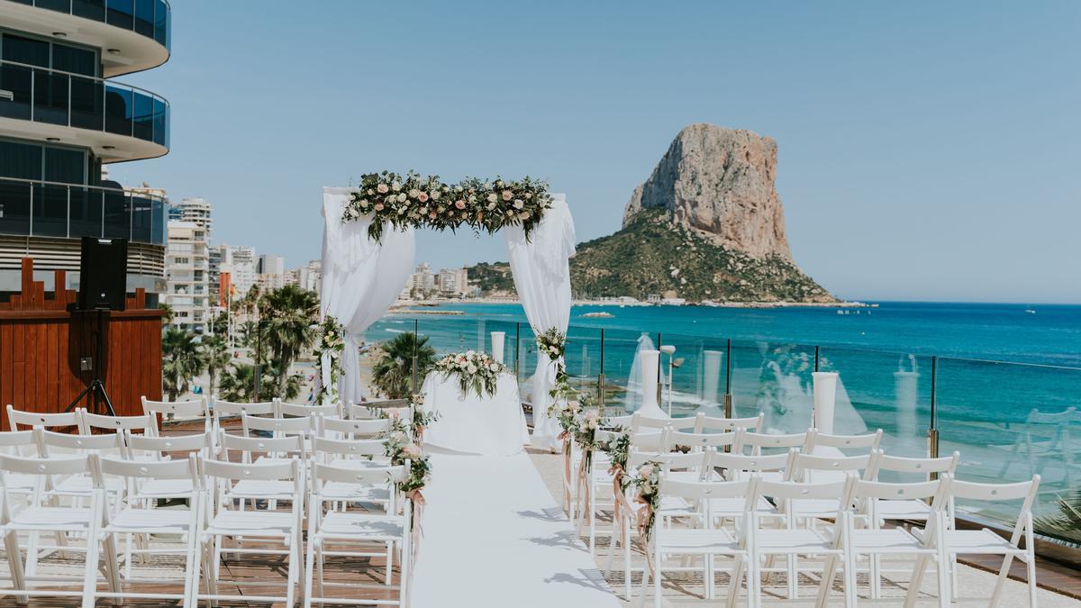
[[[533,229],[529,239],[521,226],[504,228],[510,270],[518,299],[534,333],[553,327],[566,332],[571,321],[571,267],[574,255],[574,220],[565,195],[552,195],[551,209]],[[560,361],[562,362],[562,361]],[[557,449],[559,423],[548,415],[549,392],[556,384],[556,361],[537,356],[533,375],[533,447]]]

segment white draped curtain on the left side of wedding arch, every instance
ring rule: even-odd
[[[350,188],[323,188],[323,261],[321,316],[332,315],[343,326],[345,349],[338,396],[359,401],[360,336],[383,317],[401,293],[413,268],[413,229],[384,226],[383,238],[368,237],[371,217],[342,222]],[[330,381],[330,362],[323,360],[321,380]]]

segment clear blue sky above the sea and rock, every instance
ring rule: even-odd
[[[408,4],[408,5],[406,5]],[[548,179],[614,232],[676,133],[779,145],[792,253],[853,299],[1081,302],[1081,2],[174,0],[172,151],[112,166],[318,257],[323,185]],[[422,234],[417,261],[501,260]]]

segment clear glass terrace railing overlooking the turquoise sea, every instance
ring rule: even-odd
[[[372,326],[365,341],[416,332],[438,354],[490,353],[493,331],[506,333],[504,360],[517,373],[525,401],[538,357],[528,323],[391,316]],[[671,368],[668,356],[662,356],[659,398],[667,409],[670,371],[676,418],[762,413],[769,433],[805,431],[813,405],[811,374],[837,371],[835,433],[881,428],[882,448],[896,455],[959,451],[960,479],[1020,481],[1040,474],[1038,531],[1081,542],[1081,533],[1064,538],[1041,523],[1062,517],[1060,499],[1081,494],[1081,368],[572,326],[568,374],[579,389],[596,391],[610,415],[641,402],[632,368],[643,336],[653,347],[676,347]],[[417,384],[423,380],[417,378]],[[1007,525],[1012,506],[958,504],[971,519]]]

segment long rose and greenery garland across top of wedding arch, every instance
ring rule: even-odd
[[[467,225],[477,233],[489,234],[521,225],[528,238],[549,208],[548,184],[529,176],[517,181],[468,177],[457,184],[445,184],[438,175],[383,171],[361,175],[360,186],[342,212],[342,221],[372,216],[368,235],[375,240],[382,238],[386,222],[396,228],[437,230]]]

